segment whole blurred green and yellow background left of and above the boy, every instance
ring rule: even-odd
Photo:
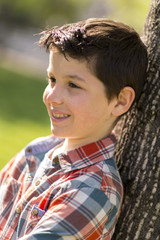
[[[143,31],[150,0],[0,1],[0,169],[36,137],[50,134],[42,101],[47,53],[33,33],[88,17],[108,17]]]

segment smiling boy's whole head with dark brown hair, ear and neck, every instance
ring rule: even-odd
[[[43,32],[40,45],[50,50],[43,99],[52,133],[71,148],[108,135],[143,86],[147,52],[139,35],[122,23],[88,19]]]

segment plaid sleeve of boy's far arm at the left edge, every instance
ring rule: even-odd
[[[15,203],[16,196],[24,181],[26,161],[22,150],[0,172],[0,219],[1,228],[4,227],[6,220]],[[3,223],[2,223],[2,219]]]

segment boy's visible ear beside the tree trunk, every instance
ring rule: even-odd
[[[117,98],[112,114],[115,117],[121,116],[129,110],[135,98],[135,91],[131,87],[124,87]]]

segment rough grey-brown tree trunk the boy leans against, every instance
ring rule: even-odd
[[[142,96],[116,126],[124,202],[113,240],[160,239],[160,0],[144,27],[149,70]]]

